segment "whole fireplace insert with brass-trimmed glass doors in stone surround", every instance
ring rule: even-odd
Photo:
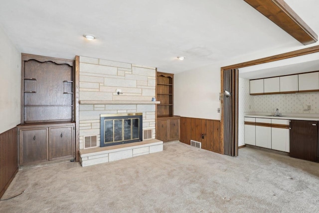
[[[101,114],[100,147],[143,141],[143,113]]]

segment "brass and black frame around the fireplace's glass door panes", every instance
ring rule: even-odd
[[[138,119],[139,127],[138,127],[138,136],[139,138],[133,138],[132,134],[132,126],[133,122],[131,120],[131,139],[130,140],[124,140],[124,120],[130,120],[130,119]],[[112,142],[105,142],[106,141],[106,121],[113,120],[113,141]],[[122,120],[122,140],[121,141],[116,141],[115,140],[115,131],[114,131],[114,121],[115,120]],[[143,141],[143,113],[126,113],[126,114],[101,114],[100,115],[100,147],[105,147],[105,146],[113,146],[113,145],[119,145],[119,144],[127,144],[127,143],[133,143],[133,142],[139,142]]]

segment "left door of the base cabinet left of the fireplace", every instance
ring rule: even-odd
[[[22,149],[21,149],[22,148]],[[20,130],[20,164],[39,163],[48,160],[47,128]]]

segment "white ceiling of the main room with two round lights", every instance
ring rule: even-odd
[[[319,34],[318,0],[286,2]],[[170,73],[303,47],[244,0],[0,0],[0,25],[23,53],[83,55]],[[85,40],[86,33],[97,39]]]

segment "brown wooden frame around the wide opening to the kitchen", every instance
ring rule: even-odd
[[[223,91],[224,91],[224,85],[223,85],[224,70],[238,69],[238,68],[242,68],[242,67],[246,67],[246,66],[268,63],[268,62],[272,62],[272,61],[293,58],[293,57],[307,55],[307,54],[316,53],[316,52],[319,52],[319,45],[304,48],[304,49],[299,49],[299,50],[295,50],[295,51],[291,51],[291,52],[286,52],[286,53],[282,53],[282,54],[278,54],[278,55],[274,55],[274,56],[270,56],[270,57],[260,58],[260,59],[256,59],[256,60],[251,60],[251,61],[246,61],[243,63],[238,63],[238,64],[233,64],[233,65],[221,67],[221,81],[220,81],[221,89],[220,89],[220,92],[221,92],[221,94],[223,94]],[[235,82],[235,83],[238,84],[238,82]],[[238,100],[236,100],[236,101],[238,101]],[[221,100],[221,103],[222,102],[223,102],[223,100]],[[223,117],[223,115],[224,115],[224,106],[221,109],[221,117],[220,117],[220,122],[221,122],[221,125],[220,125],[221,154],[224,154],[224,117]],[[236,128],[238,128],[238,124],[236,125]],[[235,140],[233,141],[233,143],[235,143]]]

